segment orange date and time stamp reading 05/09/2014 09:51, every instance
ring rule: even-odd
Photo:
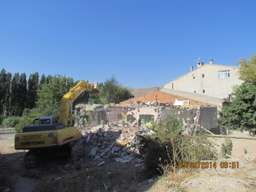
[[[181,169],[185,168],[202,168],[202,169],[208,169],[208,168],[215,168],[216,169],[216,162],[179,162],[178,167]],[[220,168],[237,168],[238,169],[238,162],[220,162]]]

